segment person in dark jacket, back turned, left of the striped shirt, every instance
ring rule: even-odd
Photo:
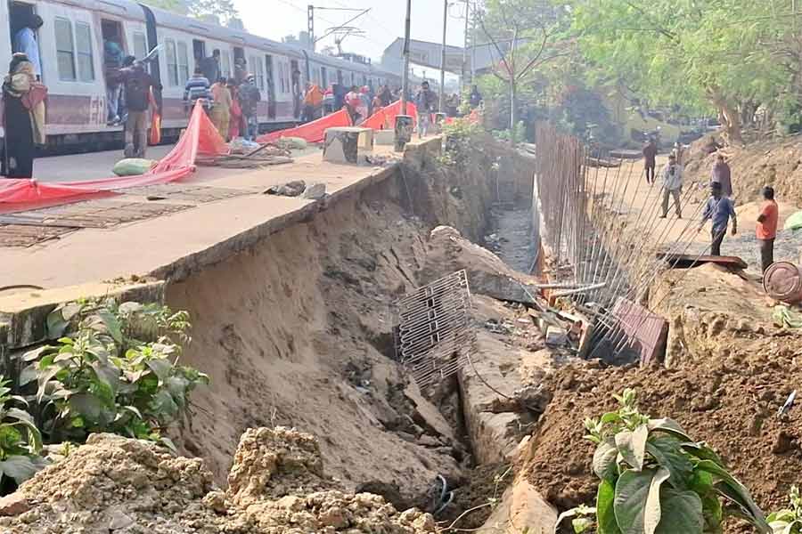
[[[148,148],[148,109],[151,106],[151,91],[159,91],[142,61],[134,61],[127,69],[120,69],[120,79],[126,90],[126,158],[144,158]]]

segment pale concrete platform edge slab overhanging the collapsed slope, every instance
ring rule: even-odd
[[[427,145],[436,142],[438,138],[410,143],[409,150],[429,150]],[[0,288],[20,284],[54,288],[129,279],[131,275],[182,279],[288,224],[305,220],[322,207],[313,200],[269,196],[259,191],[292,180],[318,182],[326,185],[331,194],[326,202],[331,203],[388,179],[396,165],[335,165],[323,162],[317,153],[297,158],[289,165],[256,171],[202,168],[191,182],[241,188],[249,194],[110,229],[76,231],[34,247],[2,247]]]

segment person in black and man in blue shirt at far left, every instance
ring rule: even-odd
[[[3,79],[4,142],[0,175],[31,178],[37,146],[45,144],[45,98],[41,83],[37,30],[44,24],[31,13],[14,28],[13,55]]]

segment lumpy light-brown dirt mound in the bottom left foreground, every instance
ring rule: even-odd
[[[95,434],[23,484],[29,511],[0,519],[4,534],[424,534],[429,514],[398,514],[369,493],[348,494],[323,477],[315,439],[284,428],[242,436],[230,475],[216,490],[200,459],[173,457],[146,441]],[[302,492],[306,489],[307,493]],[[323,490],[325,489],[325,490]]]

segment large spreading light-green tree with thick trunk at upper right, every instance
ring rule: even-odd
[[[759,106],[798,101],[790,0],[573,0],[572,27],[597,79],[653,104],[718,114],[730,142]],[[751,109],[751,113],[749,113]]]

